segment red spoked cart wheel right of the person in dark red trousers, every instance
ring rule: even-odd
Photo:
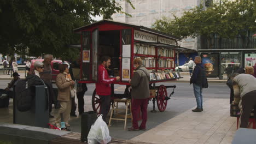
[[[164,85],[159,86],[158,88],[158,94],[156,95],[156,104],[158,105],[158,110],[160,112],[165,111],[167,106],[167,91],[166,87]]]

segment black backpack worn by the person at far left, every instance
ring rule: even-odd
[[[24,112],[31,109],[31,105],[35,97],[35,94],[32,91],[31,87],[35,85],[45,86],[43,80],[41,80],[36,75],[28,75],[26,79],[20,80],[16,84],[15,103],[19,111]],[[47,89],[46,86],[45,86],[45,89]]]

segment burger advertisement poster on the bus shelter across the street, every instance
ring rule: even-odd
[[[219,54],[218,53],[202,53],[202,65],[205,67],[207,77],[219,76]]]

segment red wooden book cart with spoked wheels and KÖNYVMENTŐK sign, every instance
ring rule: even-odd
[[[95,83],[97,68],[101,56],[110,56],[110,76],[120,76],[118,85],[125,85],[123,94],[114,93],[112,98],[130,97],[131,79],[134,71],[133,59],[141,57],[143,64],[150,71],[150,97],[155,101],[160,112],[165,111],[167,101],[174,93],[175,85],[156,86],[156,82],[174,81],[181,76],[175,72],[175,51],[181,38],[165,34],[143,26],[130,25],[110,20],[102,20],[74,29],[81,36],[80,83]],[[173,88],[167,95],[166,88]],[[92,94],[92,108],[99,111],[101,101],[96,91]]]

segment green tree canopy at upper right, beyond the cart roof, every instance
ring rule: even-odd
[[[185,11],[174,19],[162,17],[153,28],[181,38],[203,35],[206,38],[218,34],[222,38],[235,38],[248,31],[256,32],[256,3],[254,0],[235,0],[211,3]]]

